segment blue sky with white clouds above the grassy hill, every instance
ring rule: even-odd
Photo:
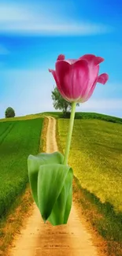
[[[91,99],[77,111],[122,117],[122,1],[0,0],[0,118],[12,106],[17,116],[52,111],[58,54],[105,58]]]

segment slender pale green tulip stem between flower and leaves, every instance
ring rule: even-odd
[[[76,111],[76,102],[72,102],[72,111],[70,115],[70,121],[68,126],[68,136],[67,136],[66,148],[65,148],[64,165],[68,165],[68,154],[69,154],[70,144],[72,139],[72,129],[74,124],[75,111]]]

